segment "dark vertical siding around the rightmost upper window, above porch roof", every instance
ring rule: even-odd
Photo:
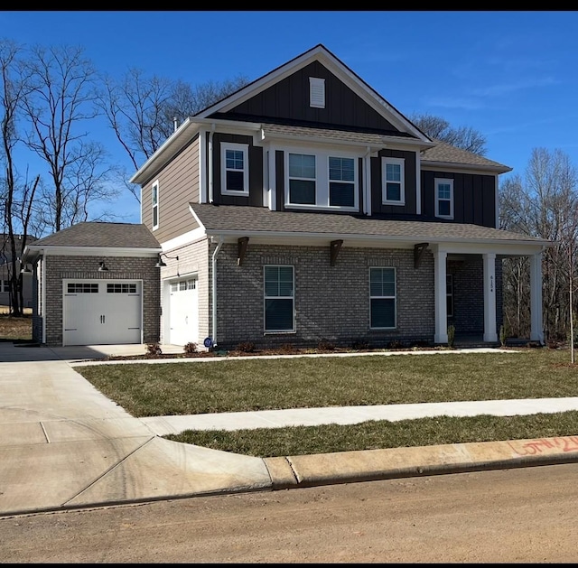
[[[422,171],[422,213],[434,217],[433,180],[453,180],[453,222],[496,228],[496,178],[493,175]]]

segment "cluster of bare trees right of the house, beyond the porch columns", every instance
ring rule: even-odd
[[[573,164],[561,150],[532,151],[525,179],[500,189],[501,228],[555,241],[543,256],[544,325],[547,340],[564,340],[573,321],[570,286],[575,278],[578,245],[578,192]],[[529,278],[526,259],[504,263],[504,311],[512,329],[529,328]]]

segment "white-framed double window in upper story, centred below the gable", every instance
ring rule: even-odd
[[[317,151],[285,153],[285,206],[359,209],[358,156]]]

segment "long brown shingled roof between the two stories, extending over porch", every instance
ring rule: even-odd
[[[548,244],[549,241],[528,237],[498,228],[479,225],[375,219],[359,215],[271,211],[261,207],[190,203],[197,219],[208,233],[242,232],[251,234],[294,233],[295,236],[390,237],[415,242],[476,241],[510,244]]]

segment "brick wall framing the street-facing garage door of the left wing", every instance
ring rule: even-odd
[[[62,344],[62,280],[142,280],[143,281],[143,340],[159,340],[160,289],[159,269],[154,257],[135,256],[45,256],[47,345]],[[107,272],[98,272],[98,262],[104,260]],[[40,321],[42,325],[42,321]],[[37,324],[38,325],[38,324]]]

